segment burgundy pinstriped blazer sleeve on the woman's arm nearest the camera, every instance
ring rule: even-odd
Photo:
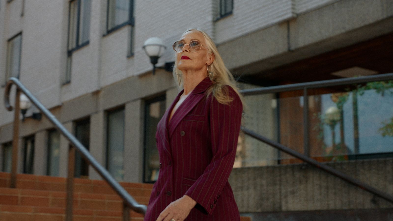
[[[204,173],[185,192],[196,201],[196,208],[209,215],[213,213],[232,171],[241,125],[241,99],[229,86],[228,94],[233,98],[229,105],[223,105],[211,96],[209,117],[213,158]]]

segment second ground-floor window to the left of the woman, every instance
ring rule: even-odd
[[[123,180],[124,168],[124,108],[108,112],[107,169],[118,181]]]

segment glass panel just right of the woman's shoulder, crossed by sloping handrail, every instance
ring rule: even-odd
[[[304,153],[302,93],[294,91],[245,96],[244,127]],[[242,133],[239,136],[234,167],[292,163],[301,161],[255,138]]]

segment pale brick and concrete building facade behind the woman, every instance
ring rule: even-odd
[[[392,0],[2,0],[0,103],[7,79],[18,77],[116,179],[154,182],[156,124],[180,90],[172,72],[152,75],[142,46],[161,38],[166,50],[156,66],[163,67],[187,28],[211,35],[242,89],[393,72]],[[364,106],[358,129],[348,126],[355,98],[337,95],[348,90],[310,92],[307,155],[322,162],[393,157],[392,97],[372,89],[356,98]],[[301,94],[246,97],[245,126],[304,153]],[[338,105],[335,96],[347,102],[332,123],[326,114]],[[12,122],[13,112],[0,108],[2,171],[10,169]],[[45,117],[21,122],[19,144],[19,173],[66,177],[68,142]],[[300,162],[244,134],[238,153],[237,168]],[[76,162],[78,177],[100,179],[79,156]]]

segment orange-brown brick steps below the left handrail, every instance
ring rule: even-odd
[[[9,188],[10,174],[0,172],[0,220],[63,221],[66,178],[17,175],[17,188]],[[147,205],[153,184],[120,182],[140,204]],[[103,180],[74,179],[74,221],[122,221],[121,198]],[[132,221],[143,215],[131,211]],[[251,221],[241,217],[241,221]]]

